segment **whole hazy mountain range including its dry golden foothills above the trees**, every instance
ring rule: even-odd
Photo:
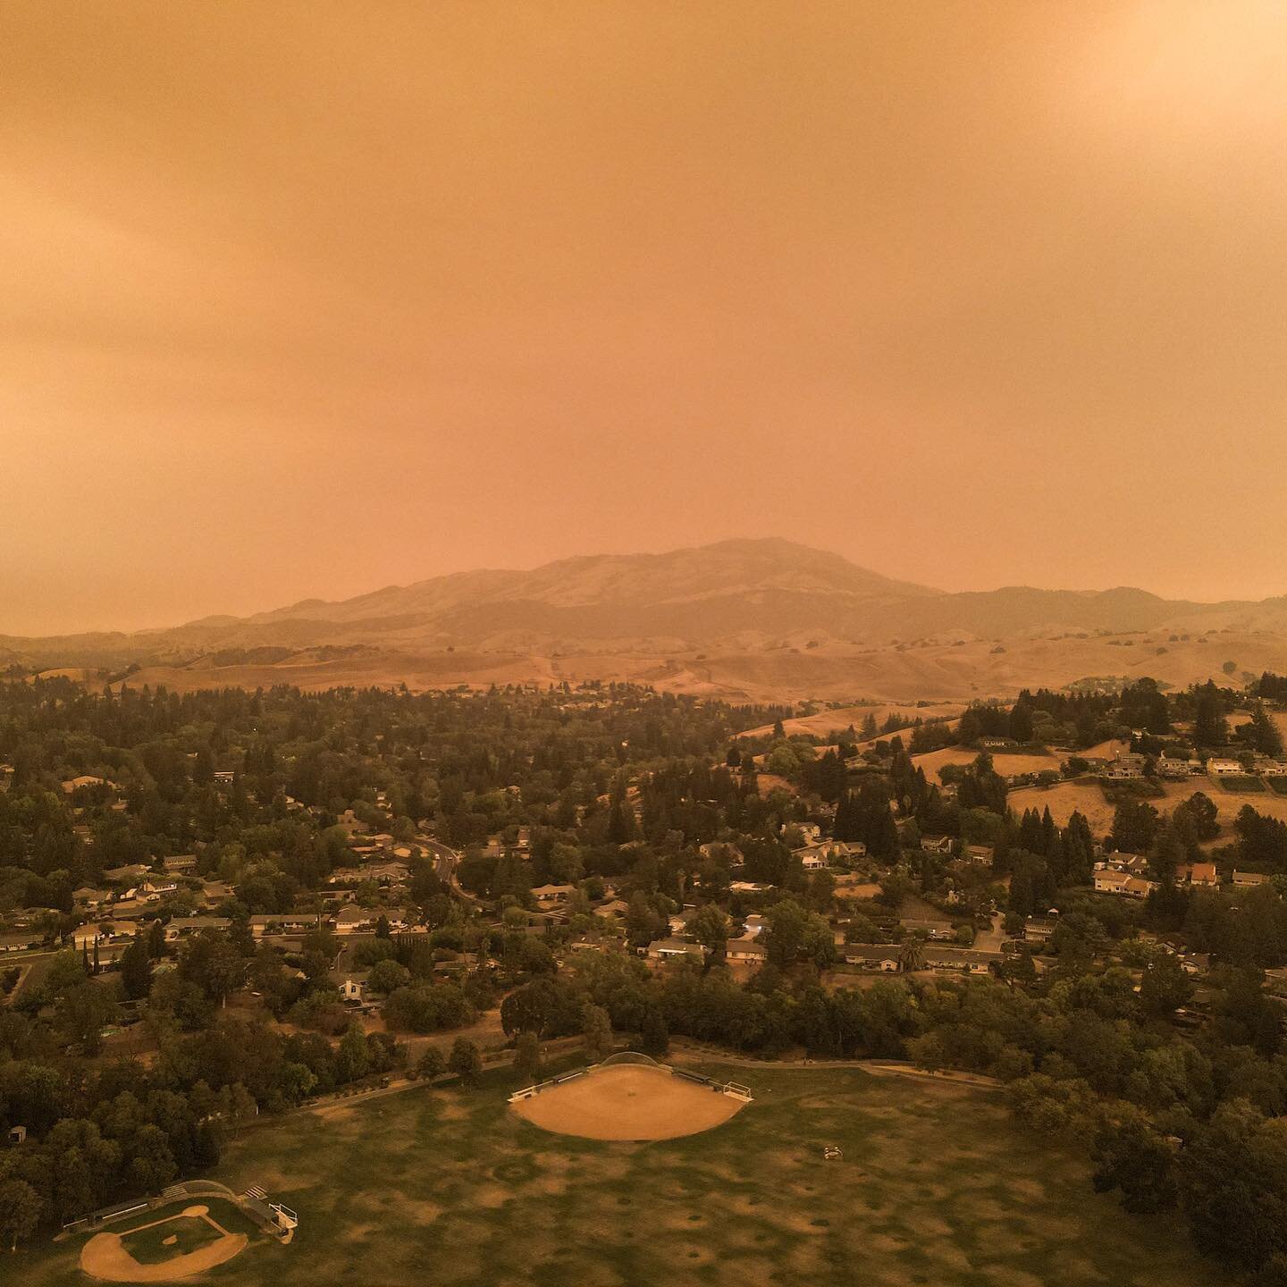
[[[1093,676],[1188,683],[1228,660],[1287,669],[1287,597],[952,593],[781,539],[457,573],[133,634],[0,636],[0,667],[135,668],[131,683],[180,689],[618,678],[755,699],[963,699]]]

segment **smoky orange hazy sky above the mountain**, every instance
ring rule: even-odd
[[[1278,3],[6,0],[0,631],[785,535],[1287,592]]]

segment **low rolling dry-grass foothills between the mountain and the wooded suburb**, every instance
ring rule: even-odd
[[[272,687],[296,683],[305,690],[336,685],[407,683],[414,691],[449,689],[463,683],[542,683],[564,680],[631,681],[664,692],[691,692],[755,701],[844,701],[870,699],[878,721],[892,709],[918,713],[916,701],[932,703],[919,710],[960,714],[967,701],[1013,698],[1021,689],[1062,689],[1090,676],[1120,682],[1151,676],[1174,687],[1215,680],[1228,683],[1223,663],[1236,658],[1242,668],[1287,669],[1287,636],[1252,632],[1211,634],[1170,642],[1166,636],[1062,636],[1058,638],[969,640],[963,644],[923,641],[891,645],[825,644],[815,650],[793,647],[695,649],[682,638],[613,637],[578,640],[560,636],[533,638],[525,632],[501,631],[472,642],[459,641],[448,653],[430,631],[380,629],[363,633],[345,627],[327,633],[326,642],[360,644],[354,655],[322,655],[319,641],[308,632],[299,636],[297,623],[282,623],[278,633],[256,642],[278,641],[296,649],[295,655],[274,664],[219,665],[210,656],[187,664],[149,663],[129,680],[130,687],[158,683],[171,691],[192,692],[210,687]],[[1152,646],[1151,646],[1152,645]],[[1165,647],[1158,654],[1157,647]],[[196,651],[180,641],[176,651]],[[557,650],[556,650],[557,649]],[[909,704],[911,704],[909,707]],[[871,707],[849,707],[808,717],[815,727],[795,731],[829,736],[853,723],[861,727]],[[794,721],[792,722],[794,723]],[[758,730],[755,730],[758,731]],[[768,730],[764,730],[768,731]],[[788,725],[788,731],[792,725]]]

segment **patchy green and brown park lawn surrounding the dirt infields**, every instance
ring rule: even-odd
[[[700,1135],[616,1143],[512,1113],[512,1079],[251,1130],[214,1176],[300,1212],[201,1283],[484,1287],[659,1282],[1215,1287],[1178,1228],[1122,1214],[1001,1095],[855,1068],[701,1066],[755,1099]],[[843,1157],[824,1161],[839,1145]],[[27,1251],[24,1287],[88,1282],[79,1242]]]

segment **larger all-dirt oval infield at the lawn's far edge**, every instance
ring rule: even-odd
[[[745,1104],[665,1068],[619,1064],[514,1104],[533,1126],[586,1139],[676,1139],[722,1126]]]

